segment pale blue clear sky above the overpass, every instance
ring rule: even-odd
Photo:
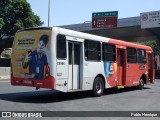
[[[32,11],[48,26],[48,1],[27,0]],[[140,13],[159,11],[160,0],[50,0],[49,26],[86,23],[93,12],[118,11],[118,18],[136,17]]]

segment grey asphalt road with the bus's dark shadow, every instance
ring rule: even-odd
[[[10,82],[0,81],[0,111],[160,111],[160,80],[157,79],[154,85],[146,85],[143,90],[136,87],[107,89],[101,97],[93,97],[90,92],[61,93],[46,89],[36,91],[32,87],[11,86]],[[39,119],[75,118],[37,118]],[[94,117],[87,119],[106,120]]]

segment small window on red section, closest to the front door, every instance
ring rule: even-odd
[[[146,51],[138,49],[138,63],[146,63]]]

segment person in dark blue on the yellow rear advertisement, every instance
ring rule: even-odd
[[[47,62],[47,48],[48,35],[42,35],[38,41],[37,47],[34,51],[28,50],[23,61],[23,68],[29,66],[29,78],[43,79],[44,67],[48,65]]]

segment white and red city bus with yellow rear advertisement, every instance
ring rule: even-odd
[[[59,27],[17,31],[11,57],[11,84],[61,92],[153,84],[149,46]]]

